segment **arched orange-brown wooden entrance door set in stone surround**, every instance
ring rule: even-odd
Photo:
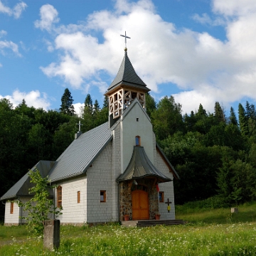
[[[132,191],[132,220],[149,220],[149,194],[146,191]]]

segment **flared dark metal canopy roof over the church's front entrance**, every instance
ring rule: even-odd
[[[129,161],[127,169],[121,174],[117,181],[126,181],[132,178],[156,177],[160,182],[171,181],[151,163],[143,146],[134,146],[132,158]]]

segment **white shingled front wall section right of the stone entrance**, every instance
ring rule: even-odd
[[[173,179],[173,174],[170,173],[169,168],[166,166],[164,159],[160,156],[159,152],[156,151],[156,168],[161,171],[165,176]],[[164,203],[159,202],[159,212],[161,214],[161,219],[175,220],[175,204],[174,204],[174,182],[165,182],[159,183],[159,191],[164,192]],[[171,202],[171,210],[170,213],[167,210],[167,198]]]

